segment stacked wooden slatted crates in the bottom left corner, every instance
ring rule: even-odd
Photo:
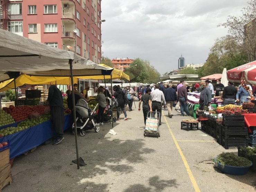
[[[0,191],[11,184],[11,164],[9,163],[9,148],[0,152]]]

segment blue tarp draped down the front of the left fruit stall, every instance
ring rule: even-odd
[[[15,124],[12,124],[15,125]],[[63,130],[68,129],[70,126],[70,115],[64,116]],[[6,126],[5,126],[6,127]],[[10,127],[10,125],[9,125]],[[2,128],[2,127],[1,127]],[[10,140],[10,159],[26,153],[30,149],[33,149],[48,139],[51,139],[56,135],[55,128],[52,121],[48,120],[42,124],[30,127],[28,129],[13,133],[8,136],[0,138],[0,143]]]

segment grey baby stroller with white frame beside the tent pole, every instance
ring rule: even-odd
[[[100,126],[95,125],[92,115],[95,113],[95,109],[98,104],[91,111],[88,107],[87,102],[84,99],[79,99],[75,106],[75,111],[79,114],[76,118],[76,128],[80,130],[80,135],[84,136],[86,130],[91,130],[94,128],[95,132],[100,131]],[[74,124],[72,126],[72,133],[75,135]]]

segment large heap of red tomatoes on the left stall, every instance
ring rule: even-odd
[[[31,106],[17,106],[10,105],[9,108],[3,107],[3,110],[10,114],[12,118],[17,121],[22,121],[28,118],[28,115],[34,111]]]

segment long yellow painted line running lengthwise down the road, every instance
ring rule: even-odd
[[[164,114],[163,111],[162,111],[162,114]],[[188,174],[189,174],[189,178],[190,178],[190,180],[191,180],[191,183],[193,184],[194,190],[195,190],[195,192],[200,192],[200,189],[199,189],[199,187],[198,187],[198,185],[197,185],[197,183],[196,183],[196,181],[195,181],[195,178],[194,178],[194,176],[193,176],[193,174],[192,174],[192,172],[191,172],[191,170],[190,170],[190,168],[189,168],[189,164],[188,164],[188,162],[186,161],[186,158],[185,158],[185,156],[183,155],[182,150],[181,150],[181,148],[180,148],[180,146],[179,146],[179,144],[178,144],[176,138],[175,138],[174,135],[173,135],[173,132],[172,132],[172,130],[171,130],[169,124],[168,124],[168,121],[166,120],[166,117],[165,117],[165,116],[163,116],[163,117],[164,117],[164,120],[165,120],[165,122],[166,122],[166,125],[167,125],[167,127],[168,127],[168,129],[169,129],[169,131],[170,131],[170,133],[171,133],[171,136],[172,136],[172,138],[173,138],[173,141],[174,141],[174,143],[175,143],[175,145],[176,145],[176,147],[177,147],[177,149],[178,149],[178,151],[179,151],[179,153],[180,153],[180,156],[181,156],[182,161],[183,161],[183,163],[184,163],[184,165],[185,165],[185,167],[186,167],[186,170],[187,170],[187,172],[188,172]]]

